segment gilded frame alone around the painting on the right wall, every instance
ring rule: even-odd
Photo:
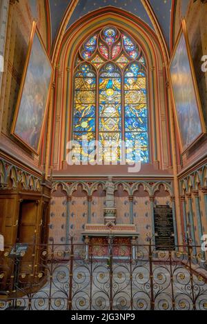
[[[194,90],[195,90],[197,109],[199,110],[199,118],[200,118],[201,129],[202,129],[202,132],[201,132],[201,134],[199,134],[197,139],[195,139],[195,141],[193,141],[193,143],[188,145],[188,147],[185,150],[184,150],[184,147],[183,147],[183,144],[182,144],[182,141],[181,141],[181,134],[179,132],[179,122],[178,122],[178,119],[177,119],[177,109],[176,109],[176,106],[175,106],[175,98],[174,98],[174,94],[173,94],[172,80],[171,80],[171,75],[170,75],[170,66],[171,66],[171,63],[172,63],[172,61],[173,61],[173,59],[175,57],[177,46],[178,46],[179,41],[181,39],[181,34],[182,33],[184,34],[184,38],[185,38],[185,41],[186,41],[186,50],[188,52],[188,60],[189,60],[189,64],[190,64],[190,72],[191,72],[191,77],[192,77],[192,80],[193,80],[193,87],[194,87]],[[169,79],[169,82],[170,82],[170,92],[171,92],[172,99],[173,99],[172,100],[173,101],[173,109],[174,109],[175,119],[176,119],[177,128],[178,128],[179,145],[181,147],[182,154],[184,154],[190,148],[192,148],[193,145],[195,145],[195,143],[197,143],[197,141],[199,141],[199,139],[201,139],[201,137],[204,136],[204,134],[206,134],[206,124],[205,124],[204,115],[203,115],[203,112],[202,112],[202,109],[201,109],[201,101],[200,101],[200,98],[199,98],[199,91],[198,91],[198,87],[197,87],[197,80],[196,80],[196,77],[195,77],[195,69],[194,69],[194,66],[193,66],[193,59],[192,59],[191,52],[190,52],[190,43],[189,43],[189,39],[188,39],[188,32],[187,32],[187,28],[186,28],[185,19],[181,23],[181,28],[180,28],[179,34],[177,36],[177,41],[175,43],[175,47],[174,47],[174,49],[172,51],[172,55],[171,55],[171,58],[170,58],[170,63],[168,65],[168,79]]]

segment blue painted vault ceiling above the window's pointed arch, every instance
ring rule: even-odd
[[[57,31],[59,29],[63,15],[66,12],[70,0],[49,0],[50,1],[50,14],[51,14],[51,24],[52,24],[52,41],[54,41]],[[164,32],[166,41],[169,44],[170,40],[170,11],[172,6],[172,0],[149,0],[152,9],[154,10],[159,25]],[[144,6],[141,3],[141,0],[79,0],[75,11],[68,22],[68,28],[75,23],[83,15],[88,14],[99,8],[106,6],[113,6],[117,8],[124,9],[132,14],[135,14],[137,17],[145,21],[150,28],[153,29],[152,23]]]

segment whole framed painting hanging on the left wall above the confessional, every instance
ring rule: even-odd
[[[37,154],[46,121],[53,72],[50,57],[34,22],[11,134]]]

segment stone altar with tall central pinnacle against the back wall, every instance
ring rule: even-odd
[[[134,224],[117,224],[114,192],[115,185],[109,178],[103,224],[86,224],[82,233],[86,243],[86,259],[89,256],[106,258],[111,255],[117,258],[136,257],[139,233]]]

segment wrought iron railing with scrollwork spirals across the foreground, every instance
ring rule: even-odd
[[[20,259],[7,247],[0,310],[207,310],[207,263],[199,247],[130,245],[128,256],[122,247],[114,255],[114,247],[92,255],[83,244],[41,245],[37,255],[30,245]]]

